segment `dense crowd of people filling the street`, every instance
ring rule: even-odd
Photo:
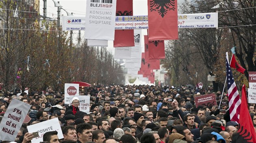
[[[220,109],[218,105],[195,105],[194,97],[210,93],[210,87],[87,87],[80,90],[80,95],[90,96],[90,111],[85,113],[80,111],[77,97],[65,104],[61,90],[48,88],[27,94],[17,89],[0,100],[0,122],[12,99],[18,99],[31,105],[31,120],[22,124],[16,143],[30,143],[35,138],[27,126],[53,118],[59,119],[64,138],[49,131],[41,143],[235,143],[239,125],[230,121],[227,94],[221,100],[221,93],[215,93]],[[54,98],[47,99],[48,95]],[[248,105],[254,127],[255,109],[254,104]]]

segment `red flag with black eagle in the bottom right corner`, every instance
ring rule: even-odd
[[[242,88],[241,111],[237,133],[233,134],[232,143],[256,143],[256,133],[248,111],[245,85]]]

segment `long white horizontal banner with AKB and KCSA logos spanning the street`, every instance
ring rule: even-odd
[[[63,16],[63,30],[85,29],[85,17]],[[74,17],[74,18],[70,18]],[[81,22],[79,22],[80,20]],[[67,21],[71,20],[70,24]],[[81,24],[80,24],[81,23]],[[195,13],[178,15],[178,28],[217,28],[218,13]],[[117,16],[115,29],[148,29],[148,16]]]

